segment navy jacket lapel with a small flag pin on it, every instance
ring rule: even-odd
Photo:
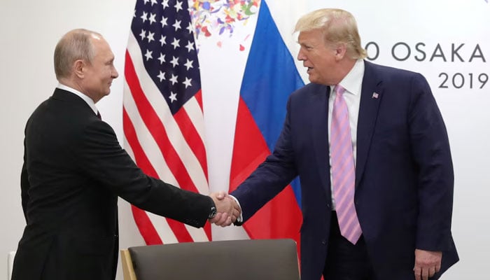
[[[360,95],[357,123],[356,188],[362,179],[371,145],[379,104],[383,98],[382,81],[377,77],[374,64],[364,62],[364,77]]]

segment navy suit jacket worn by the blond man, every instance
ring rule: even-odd
[[[377,98],[373,97],[376,92]],[[303,280],[323,272],[330,228],[328,95],[290,95],[274,152],[232,193],[244,221],[300,176]],[[458,260],[451,237],[454,176],[446,128],[425,78],[365,62],[357,132],[355,204],[377,279],[414,279],[414,249]]]

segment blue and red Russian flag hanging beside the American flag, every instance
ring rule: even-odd
[[[260,3],[258,22],[241,82],[230,193],[271,153],[286,116],[288,95],[304,85],[294,59]],[[299,183],[288,186],[244,223],[251,239],[291,238],[300,244]],[[277,218],[283,217],[283,218]]]

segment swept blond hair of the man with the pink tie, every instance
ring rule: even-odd
[[[323,8],[303,15],[297,21],[295,32],[321,29],[325,43],[345,43],[347,55],[352,59],[365,58],[366,50],[360,46],[356,19],[346,10]]]

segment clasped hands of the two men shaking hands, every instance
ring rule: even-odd
[[[241,216],[241,208],[234,197],[223,191],[211,193],[209,197],[213,199],[217,211],[216,216],[209,219],[209,223],[226,227],[235,223]]]

